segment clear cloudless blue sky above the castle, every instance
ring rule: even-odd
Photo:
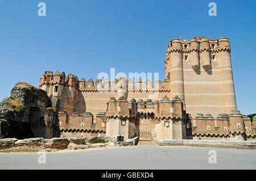
[[[38,3],[46,3],[46,17]],[[217,3],[217,16],[208,4]],[[158,72],[168,40],[228,37],[237,107],[256,112],[256,1],[0,0],[0,100],[45,70],[96,79],[100,72]]]

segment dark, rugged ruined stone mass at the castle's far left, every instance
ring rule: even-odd
[[[49,98],[46,91],[29,83],[18,82],[11,90],[10,98],[0,102],[0,137],[53,137],[53,123],[47,125],[47,108],[56,105],[57,98]],[[55,112],[55,110],[53,110]]]

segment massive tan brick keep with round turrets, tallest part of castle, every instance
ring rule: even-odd
[[[236,110],[230,41],[226,37],[191,41],[173,39],[164,58],[168,96],[184,100],[187,111],[196,113],[231,113]]]

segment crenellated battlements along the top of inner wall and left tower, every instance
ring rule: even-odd
[[[109,79],[105,79],[103,82],[101,79],[96,79],[94,82],[92,78],[85,81],[84,78],[79,78],[76,75],[68,74],[65,77],[65,73],[59,73],[56,71],[52,74],[52,71],[45,71],[45,73],[40,78],[39,88],[46,90],[48,95],[56,95],[54,92],[59,90],[59,86],[74,87],[75,89],[82,92],[118,92],[119,88],[126,87],[127,92],[168,92],[170,91],[170,86],[168,81],[162,83],[160,80],[156,80],[154,85],[150,79],[146,79],[146,82],[142,82],[141,78],[138,78],[135,82],[132,79],[123,81],[124,78],[121,76],[118,79],[114,79],[111,83]],[[122,81],[122,82],[121,82]],[[55,87],[58,88],[55,89]],[[56,96],[59,96],[57,94]]]

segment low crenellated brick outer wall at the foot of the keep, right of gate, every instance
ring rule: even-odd
[[[219,114],[216,118],[212,115],[197,113],[193,118],[189,118],[193,137],[222,138],[224,140],[240,140],[255,138],[255,127],[251,124],[249,117],[242,115],[240,111],[233,110],[229,115]]]

